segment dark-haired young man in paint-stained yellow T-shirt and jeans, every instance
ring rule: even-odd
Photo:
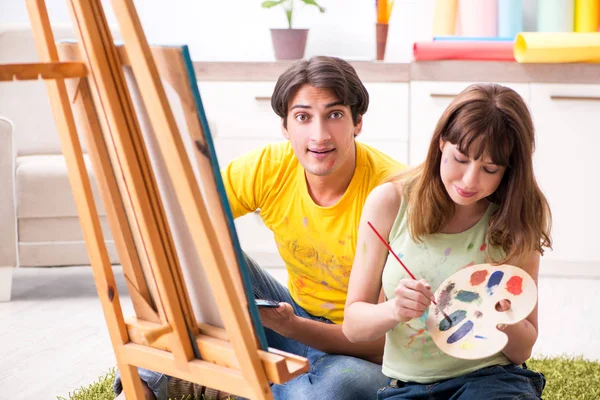
[[[307,357],[311,369],[275,399],[368,399],[385,386],[383,340],[350,343],[341,323],[356,235],[367,195],[402,165],[355,141],[369,95],[356,71],[334,57],[294,63],[271,105],[286,142],[267,145],[222,171],[234,218],[260,210],[288,270],[288,287],[248,259],[270,347]],[[167,399],[164,375],[140,370],[148,398]],[[115,388],[120,392],[120,382]]]

